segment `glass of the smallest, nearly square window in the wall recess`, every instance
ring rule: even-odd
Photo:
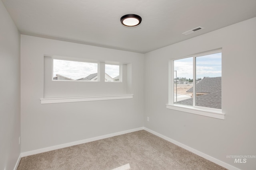
[[[105,64],[105,82],[119,82],[119,65]]]

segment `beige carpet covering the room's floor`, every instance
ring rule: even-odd
[[[21,158],[18,170],[226,170],[147,131]]]

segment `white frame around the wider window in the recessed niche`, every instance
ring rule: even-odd
[[[52,81],[70,81],[70,80],[53,80],[53,60],[66,60],[66,61],[77,61],[77,62],[83,62],[83,63],[94,63],[97,64],[97,81],[75,81],[75,82],[99,82],[100,81],[100,62],[92,62],[92,61],[86,61],[86,60],[80,60],[80,59],[69,59],[66,57],[52,57]]]

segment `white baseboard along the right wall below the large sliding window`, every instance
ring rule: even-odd
[[[198,156],[201,156],[201,157],[203,157],[203,158],[205,158],[207,160],[210,160],[210,161],[212,161],[212,162],[214,162],[214,163],[216,163],[216,164],[218,164],[218,165],[220,165],[220,166],[222,166],[224,168],[227,168],[228,170],[240,170],[240,169],[238,169],[238,168],[236,168],[236,167],[234,167],[234,166],[232,166],[230,164],[222,162],[221,160],[218,160],[218,159],[216,159],[216,158],[214,158],[212,156],[209,156],[208,154],[204,154],[203,152],[200,152],[200,151],[198,151],[196,149],[188,147],[187,145],[184,145],[184,144],[182,144],[182,143],[180,143],[178,141],[170,139],[170,138],[168,138],[168,137],[166,137],[164,135],[161,135],[160,133],[157,133],[155,131],[152,131],[152,130],[146,128],[146,127],[144,127],[144,130],[148,131],[148,132],[150,132],[150,133],[152,133],[152,134],[154,134],[154,135],[156,135],[156,136],[158,136],[158,137],[160,137],[162,139],[165,139],[166,141],[169,141],[169,142],[171,142],[171,143],[173,143],[175,145],[178,145],[179,147],[182,147],[182,148],[184,148],[186,150],[189,150],[190,152],[192,152],[194,154],[197,154]]]

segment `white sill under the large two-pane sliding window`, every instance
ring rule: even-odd
[[[167,109],[172,109],[172,110],[178,110],[178,111],[183,111],[187,113],[192,113],[196,115],[203,115],[207,117],[213,117],[216,119],[225,119],[225,114],[222,113],[221,111],[216,111],[216,110],[204,110],[204,109],[198,109],[195,107],[190,107],[190,106],[180,106],[180,105],[170,105],[166,104]]]

